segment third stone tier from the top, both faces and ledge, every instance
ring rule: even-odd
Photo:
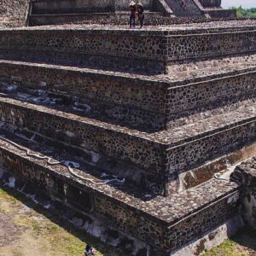
[[[248,102],[236,111],[170,131],[147,133],[0,97],[3,123],[96,154],[104,163],[111,160],[116,165],[124,163],[123,172],[127,176],[139,173],[142,183],[160,195],[170,194],[180,173],[253,143],[255,108],[255,102]]]

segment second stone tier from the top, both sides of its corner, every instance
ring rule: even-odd
[[[88,107],[85,116],[147,132],[236,110],[255,97],[256,55],[189,62],[169,69],[166,75],[145,76],[0,61],[0,82],[17,84],[18,90],[28,94],[28,90],[44,90],[59,97],[78,97]],[[11,87],[0,86],[4,88],[7,92]]]

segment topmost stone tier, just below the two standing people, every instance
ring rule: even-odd
[[[39,26],[0,30],[2,59],[131,73],[167,73],[176,61],[253,54],[256,21],[190,26]],[[205,25],[205,28],[203,26]],[[193,42],[193,44],[192,44]]]

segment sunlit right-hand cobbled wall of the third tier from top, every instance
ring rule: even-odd
[[[206,160],[230,151],[241,148],[245,143],[253,143],[256,138],[255,123],[247,122],[243,125],[230,125],[230,129],[221,131],[217,129],[211,136],[194,137],[190,143],[170,148],[168,150],[168,170],[170,177],[175,177],[177,172],[189,171],[200,166]],[[182,144],[181,142],[179,142]]]

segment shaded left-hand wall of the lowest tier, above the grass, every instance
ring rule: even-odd
[[[0,150],[0,167],[10,176],[15,175],[18,179],[37,184],[39,189],[47,191],[49,195],[61,201],[67,201],[76,209],[103,218],[106,224],[119,227],[119,230],[147,242],[149,238],[150,242],[153,244],[156,242],[156,246],[162,247],[160,243],[163,242],[161,234],[164,231],[164,222],[121,204],[111,195],[106,196],[101,192],[91,191],[89,187],[84,187],[72,178],[65,177],[64,174],[49,172],[44,165],[35,164],[32,160],[26,160],[21,156],[17,158],[8,150]]]

